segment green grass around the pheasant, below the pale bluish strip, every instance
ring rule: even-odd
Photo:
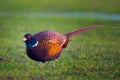
[[[71,38],[53,61],[40,63],[29,59],[22,38],[43,30],[66,33],[81,27],[104,24],[105,27]],[[112,25],[116,26],[112,26]],[[119,80],[120,21],[83,18],[0,18],[1,80]]]

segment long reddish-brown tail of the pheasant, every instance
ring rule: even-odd
[[[77,34],[81,34],[81,33],[86,32],[88,30],[92,30],[92,29],[99,28],[99,27],[102,27],[102,26],[96,25],[96,26],[91,26],[91,27],[85,27],[85,28],[81,28],[81,29],[66,33],[65,35],[69,38],[69,37],[75,36]]]

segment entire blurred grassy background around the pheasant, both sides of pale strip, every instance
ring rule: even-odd
[[[20,14],[70,11],[120,14],[119,6],[119,0],[0,0],[0,12],[5,14],[0,14],[0,79],[119,80],[120,20]],[[34,34],[48,29],[66,33],[96,24],[105,27],[72,38],[54,69],[52,61],[40,68],[40,63],[29,59],[21,41],[27,32]]]

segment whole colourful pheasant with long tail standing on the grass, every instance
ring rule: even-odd
[[[60,34],[55,31],[45,30],[34,35],[29,33],[24,35],[23,41],[26,44],[26,53],[29,58],[40,61],[41,67],[46,61],[57,61],[62,49],[66,48],[70,38],[88,30],[99,28],[101,26],[91,26],[81,28],[66,34]]]

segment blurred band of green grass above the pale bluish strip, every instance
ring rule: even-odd
[[[0,0],[0,11],[120,13],[119,0]]]

